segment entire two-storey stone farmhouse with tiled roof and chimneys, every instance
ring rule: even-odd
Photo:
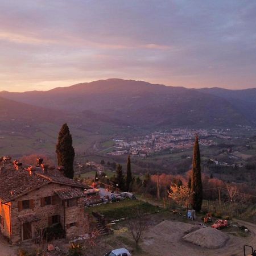
[[[14,245],[34,240],[39,230],[61,224],[65,236],[88,232],[82,185],[63,175],[63,169],[37,166],[5,158],[0,163],[0,233]]]

